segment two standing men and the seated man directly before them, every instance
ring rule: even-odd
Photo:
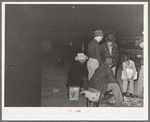
[[[95,31],[94,39],[88,44],[88,80],[89,87],[101,94],[112,91],[116,106],[120,106],[123,96],[115,78],[118,62],[118,48],[113,34],[108,34],[105,43],[99,44],[104,36],[102,30]]]

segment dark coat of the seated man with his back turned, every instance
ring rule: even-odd
[[[115,79],[111,68],[109,68],[108,65],[103,64],[101,67],[96,69],[90,80],[89,87],[94,88],[101,93],[106,93],[108,83],[117,83],[117,80]]]

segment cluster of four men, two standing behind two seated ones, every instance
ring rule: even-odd
[[[85,91],[92,88],[100,94],[111,91],[116,106],[120,106],[123,96],[115,78],[118,48],[113,34],[108,34],[106,42],[100,45],[103,37],[102,30],[95,31],[94,39],[88,44],[88,56],[84,53],[77,54],[75,63],[69,70],[66,86],[80,86]]]

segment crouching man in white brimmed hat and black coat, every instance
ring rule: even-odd
[[[88,70],[86,60],[88,57],[83,53],[78,53],[75,62],[69,70],[66,86],[79,86],[87,89]]]

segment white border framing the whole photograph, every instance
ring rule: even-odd
[[[4,107],[5,5],[91,4],[144,6],[144,107]],[[2,120],[148,120],[148,2],[2,2]],[[80,110],[80,112],[75,112]],[[93,114],[94,113],[94,114]],[[91,116],[92,115],[92,116]]]

